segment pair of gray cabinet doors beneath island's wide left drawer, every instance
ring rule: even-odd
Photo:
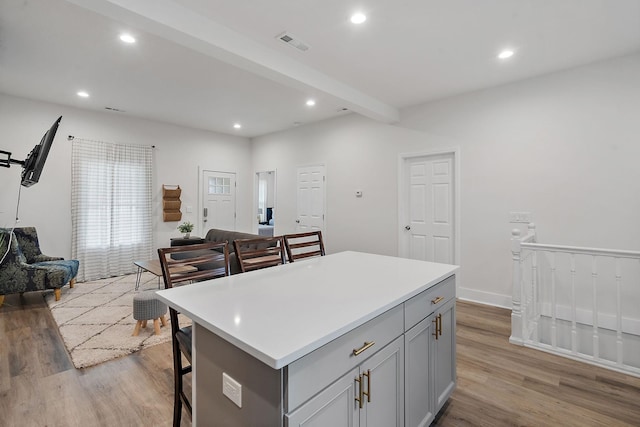
[[[285,416],[289,427],[404,425],[404,339],[396,338]]]

